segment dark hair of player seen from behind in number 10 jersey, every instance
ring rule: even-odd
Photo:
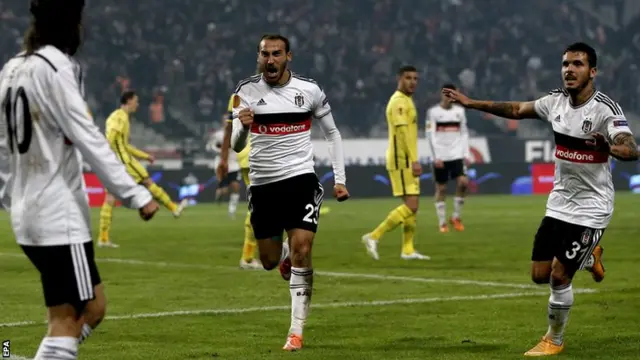
[[[31,24],[24,35],[24,48],[33,54],[45,45],[75,55],[82,43],[84,0],[31,0]]]

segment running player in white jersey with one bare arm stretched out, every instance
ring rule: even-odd
[[[599,242],[613,213],[614,188],[609,157],[638,159],[638,149],[620,106],[595,89],[597,55],[575,43],[562,56],[564,88],[530,102],[472,100],[451,89],[443,93],[461,105],[511,119],[551,123],[556,143],[555,179],[547,211],[533,243],[531,276],[550,283],[549,329],[526,356],[558,354],[573,304],[576,271],[604,279]]]

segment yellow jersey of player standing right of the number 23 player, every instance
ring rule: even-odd
[[[418,113],[413,99],[396,91],[386,110],[389,126],[387,169],[406,169],[418,161]]]

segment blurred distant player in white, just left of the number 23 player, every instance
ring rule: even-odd
[[[216,131],[213,134],[213,138],[208,144],[209,148],[213,150],[216,155],[216,169],[222,162],[222,146],[224,143],[225,127],[227,124],[228,114],[225,113],[222,119],[222,129]],[[229,150],[227,150],[227,154]],[[222,196],[229,194],[229,217],[231,219],[236,218],[236,210],[238,209],[238,202],[240,201],[240,180],[242,174],[240,173],[240,165],[235,154],[227,155],[225,161],[228,173],[223,177],[218,177],[218,186],[216,188],[216,201],[222,199]]]

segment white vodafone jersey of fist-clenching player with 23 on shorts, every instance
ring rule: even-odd
[[[235,91],[240,105],[233,109],[233,147],[241,150],[247,131],[251,140],[249,178],[251,185],[268,184],[293,176],[313,173],[312,119],[329,141],[336,184],[345,184],[342,138],[336,128],[324,91],[311,80],[291,73],[289,82],[270,86],[262,75],[241,81]],[[244,129],[238,113],[254,111],[250,129]],[[244,138],[245,141],[238,139]]]

